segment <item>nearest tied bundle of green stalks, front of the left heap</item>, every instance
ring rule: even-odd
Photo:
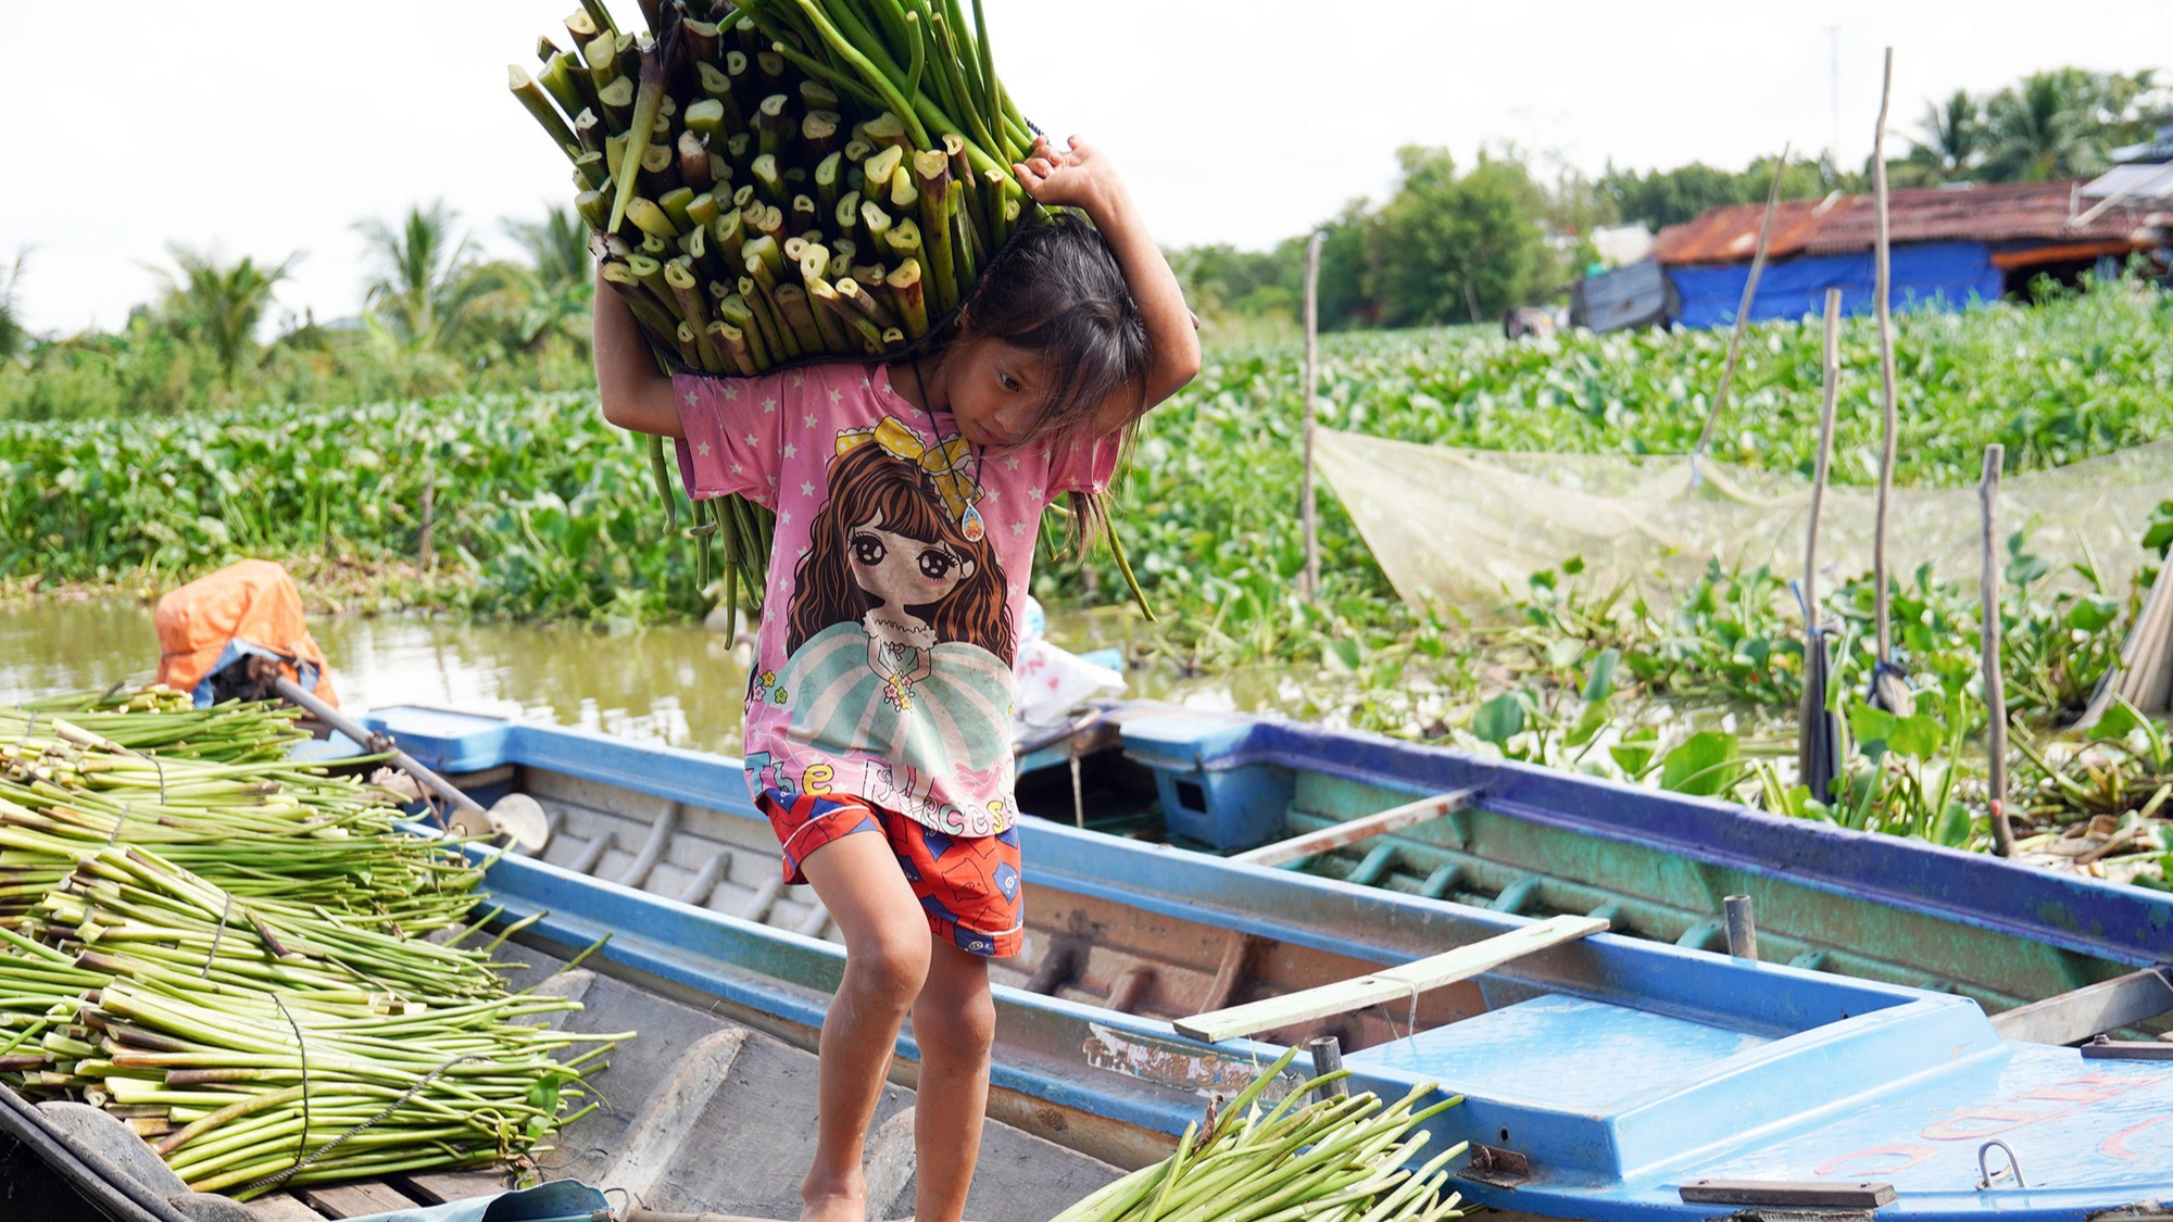
[[[0,1074],[117,1111],[198,1192],[530,1152],[630,1037],[524,1022],[578,1002],[506,994],[498,944],[267,915],[135,848],[87,855],[37,918],[0,931]]]

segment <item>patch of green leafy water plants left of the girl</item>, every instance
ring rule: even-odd
[[[241,557],[380,572],[389,602],[698,615],[639,446],[589,396],[0,424],[0,578],[172,585]],[[435,565],[417,570],[424,487]]]

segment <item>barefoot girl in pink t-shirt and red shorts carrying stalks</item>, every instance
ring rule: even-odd
[[[1041,204],[956,335],[895,365],[665,378],[632,313],[595,294],[604,417],[680,439],[693,496],[778,515],[748,787],[789,883],[845,935],[821,1028],[802,1218],[863,1222],[861,1148],[906,1011],[919,1222],[956,1222],[980,1150],[995,1005],[1021,948],[1010,663],[1041,511],[1100,496],[1126,426],[1199,370],[1176,276],[1108,161],[1037,141]],[[867,835],[858,835],[867,833]]]

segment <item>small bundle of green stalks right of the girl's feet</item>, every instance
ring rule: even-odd
[[[1462,1218],[1460,1196],[1441,1189],[1443,1168],[1465,1144],[1417,1163],[1430,1133],[1419,1124],[1462,1102],[1462,1096],[1419,1107],[1434,1085],[1419,1085],[1393,1105],[1380,1096],[1299,1100],[1336,1083],[1336,1070],[1295,1087],[1265,1115],[1260,1089],[1276,1081],[1289,1050],[1206,1124],[1189,1124],[1178,1152],[1141,1168],[1065,1209],[1054,1222],[1439,1222]],[[1319,1092],[1326,1094],[1326,1092]]]

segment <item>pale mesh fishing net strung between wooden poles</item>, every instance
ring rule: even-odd
[[[1486,607],[1528,574],[1584,557],[1599,585],[1671,587],[1710,559],[1799,576],[1810,481],[1682,454],[1523,454],[1389,441],[1323,428],[1319,470],[1404,600]],[[2136,544],[2173,496],[2173,441],[2001,481],[2001,535],[2030,528],[2030,552],[2080,561],[2121,589],[2145,561]],[[1819,518],[1821,585],[1871,570],[1871,487],[1827,487]],[[1982,535],[1975,487],[1895,489],[1888,572],[1930,563],[1973,581]],[[1825,585],[1832,589],[1832,585]]]

